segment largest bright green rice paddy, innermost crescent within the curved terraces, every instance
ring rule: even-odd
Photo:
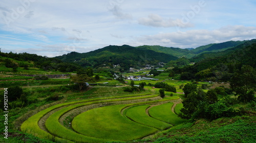
[[[120,111],[127,105],[114,105],[95,108],[74,118],[72,127],[78,133],[103,139],[133,140],[157,131],[129,119]]]

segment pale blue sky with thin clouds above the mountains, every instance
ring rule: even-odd
[[[2,52],[54,57],[109,45],[196,48],[256,38],[256,2],[1,0]]]

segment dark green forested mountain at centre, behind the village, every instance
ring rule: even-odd
[[[124,70],[131,67],[144,67],[146,64],[157,65],[159,62],[167,63],[177,60],[178,57],[156,52],[151,49],[140,49],[129,45],[107,46],[87,53],[71,52],[57,56],[64,62],[75,62],[81,66],[98,68],[101,66],[120,65]]]

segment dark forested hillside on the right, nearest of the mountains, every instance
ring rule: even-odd
[[[181,79],[228,81],[234,73],[243,66],[256,68],[256,40],[247,41],[236,47],[221,52],[203,53],[190,61],[197,60],[192,66],[176,67],[174,70],[181,74]]]

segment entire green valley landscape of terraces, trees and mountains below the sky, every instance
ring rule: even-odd
[[[256,40],[0,52],[0,142],[255,142],[255,54]]]

